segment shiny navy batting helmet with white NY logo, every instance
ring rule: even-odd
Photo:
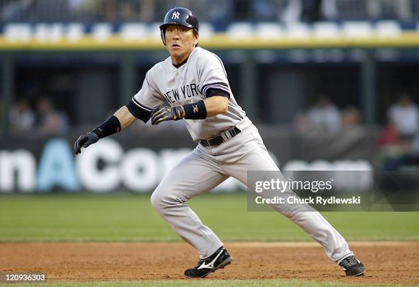
[[[164,40],[164,33],[166,32],[166,27],[170,24],[182,25],[188,28],[193,28],[196,32],[199,31],[198,18],[194,12],[187,8],[173,8],[166,13],[164,16],[163,24],[160,25],[160,33],[162,34],[162,40],[164,45],[166,45],[166,40]]]

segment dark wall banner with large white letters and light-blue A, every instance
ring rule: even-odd
[[[285,170],[374,169],[376,129],[357,127],[329,136],[261,127],[264,142]],[[196,144],[186,130],[129,130],[73,153],[76,133],[19,136],[0,142],[0,193],[150,192]],[[356,178],[346,178],[357,185]],[[336,183],[339,184],[339,183]],[[342,183],[341,183],[342,184]],[[354,188],[355,188],[354,186]],[[244,190],[231,179],[218,191]]]

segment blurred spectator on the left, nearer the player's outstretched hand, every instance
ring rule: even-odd
[[[68,116],[55,110],[53,103],[48,98],[38,101],[37,112],[39,128],[47,134],[62,134],[68,130]]]

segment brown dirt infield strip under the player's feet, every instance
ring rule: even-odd
[[[419,284],[419,242],[353,242],[366,275],[347,278],[315,242],[229,242],[234,260],[208,279],[303,279]],[[2,243],[0,271],[47,273],[49,282],[182,279],[197,253],[184,243]]]

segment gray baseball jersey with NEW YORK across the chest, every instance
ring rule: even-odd
[[[170,57],[155,64],[147,72],[141,90],[131,99],[128,108],[147,122],[151,111],[164,102],[185,105],[218,95],[229,98],[226,113],[205,120],[183,120],[193,140],[213,138],[223,130],[235,127],[246,116],[231,92],[223,62],[214,53],[196,47],[188,60],[178,66],[172,64]],[[250,121],[242,123],[250,125]]]

